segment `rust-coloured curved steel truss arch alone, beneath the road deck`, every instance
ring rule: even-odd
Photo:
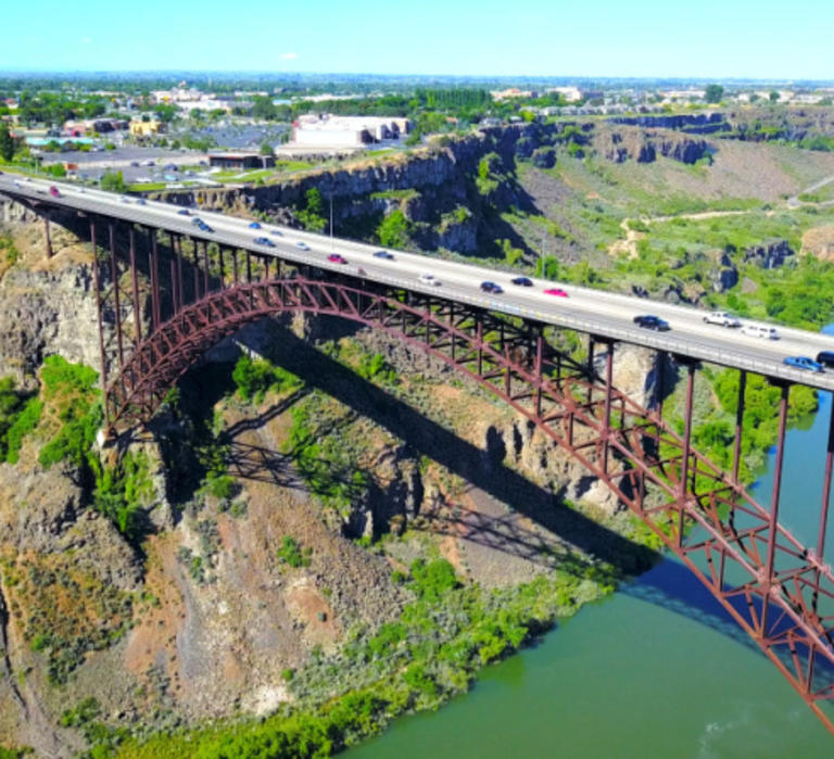
[[[541,325],[519,326],[481,308],[404,291],[292,277],[208,293],[159,324],[108,388],[110,423],[149,419],[218,340],[288,312],[382,330],[503,399],[660,537],[834,732],[821,708],[834,698],[834,617],[826,613],[834,606],[831,567],[778,523],[776,508],[759,505],[738,484],[737,467],[736,476],[728,475],[692,447],[692,365],[681,435],[612,387],[611,344],[605,376],[589,379],[583,367],[548,347]],[[787,390],[780,406],[783,429]]]

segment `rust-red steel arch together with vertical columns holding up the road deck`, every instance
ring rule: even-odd
[[[106,228],[106,248],[98,232]],[[770,503],[740,482],[746,374],[740,372],[729,471],[692,445],[693,388],[685,366],[684,430],[661,407],[645,408],[612,385],[616,346],[589,336],[587,364],[553,349],[542,324],[442,296],[282,262],[275,254],[216,248],[164,230],[90,217],[108,428],[150,419],[205,351],[266,316],[336,316],[384,332],[453,367],[509,404],[567,451],[640,518],[703,582],[834,732],[834,575],[824,564],[834,463],[830,422],[817,544],[779,523],[789,385],[781,389]],[[161,244],[167,236],[167,244]],[[119,244],[117,244],[117,242]],[[126,254],[118,249],[124,246]],[[108,327],[108,328],[105,328]],[[604,344],[605,369],[594,370]],[[664,363],[660,363],[662,367]],[[660,383],[658,383],[660,384]]]

